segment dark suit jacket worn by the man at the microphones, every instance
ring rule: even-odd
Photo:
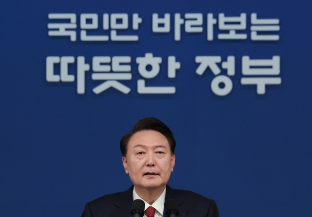
[[[124,192],[105,195],[88,202],[81,217],[130,217],[133,186]],[[166,186],[166,197],[177,202],[179,217],[219,217],[215,201],[192,191]],[[165,217],[165,215],[164,215]]]

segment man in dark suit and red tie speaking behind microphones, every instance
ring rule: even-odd
[[[125,172],[133,183],[127,191],[88,202],[82,217],[129,217],[132,201],[143,200],[144,217],[165,217],[164,202],[174,199],[179,217],[219,217],[214,200],[167,185],[174,170],[176,141],[160,120],[147,117],[120,140]]]

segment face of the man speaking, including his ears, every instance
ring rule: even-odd
[[[167,138],[153,130],[134,134],[128,142],[123,167],[136,188],[155,189],[168,183],[176,156],[171,155]]]

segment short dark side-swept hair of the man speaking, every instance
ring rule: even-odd
[[[157,131],[157,132],[163,134],[168,140],[171,154],[175,153],[176,140],[175,140],[173,133],[169,129],[169,127],[167,127],[166,124],[164,124],[162,121],[158,120],[155,117],[146,117],[146,118],[143,118],[143,119],[140,119],[139,121],[137,121],[137,123],[133,127],[132,131],[125,134],[121,138],[121,140],[120,140],[120,151],[122,153],[122,156],[127,155],[128,142],[129,142],[130,138],[135,133],[137,133],[139,131],[144,131],[144,130],[153,130],[153,131]]]

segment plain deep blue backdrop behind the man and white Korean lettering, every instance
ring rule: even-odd
[[[80,216],[84,204],[102,195],[124,191],[131,182],[124,173],[119,141],[135,122],[157,117],[176,137],[176,166],[169,184],[214,199],[222,217],[307,217],[312,213],[312,100],[311,1],[308,0],[28,0],[0,3],[0,210],[1,216]],[[76,41],[49,36],[48,14],[73,13]],[[98,28],[88,35],[108,35],[103,14],[129,15],[129,28],[120,35],[138,41],[82,41],[80,15],[98,15]],[[132,15],[142,18],[138,30]],[[152,14],[170,14],[169,33],[152,31]],[[175,13],[203,16],[202,33],[174,38]],[[212,13],[214,39],[207,40],[207,14]],[[237,33],[247,39],[222,40],[220,13],[239,17],[247,26]],[[251,14],[279,19],[277,41],[251,39]],[[90,24],[90,19],[87,19]],[[120,19],[117,24],[120,24]],[[237,24],[237,23],[236,23]],[[160,25],[161,27],[161,25]],[[260,33],[263,34],[263,33]],[[138,72],[137,57],[161,57],[159,74],[146,79]],[[46,58],[73,56],[68,72],[75,82],[48,82]],[[85,57],[85,93],[77,93],[78,56]],[[92,90],[105,81],[92,79],[94,56],[130,56],[131,89],[124,94],[109,88]],[[167,58],[180,63],[175,78],[167,76]],[[235,57],[233,89],[217,96],[216,77],[207,68],[196,74],[196,56]],[[272,59],[280,56],[281,84],[242,85],[242,56]],[[220,75],[227,76],[221,67]],[[54,64],[59,75],[60,64]],[[118,73],[118,72],[116,72]],[[254,76],[256,77],[256,76]],[[263,77],[263,76],[258,76]],[[146,86],[174,86],[174,94],[139,94],[137,80]],[[220,88],[222,84],[220,84]]]

